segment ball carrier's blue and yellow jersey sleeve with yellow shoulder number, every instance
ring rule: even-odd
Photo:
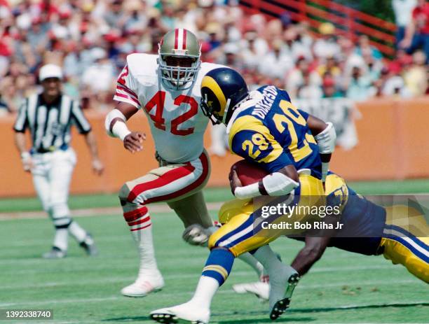
[[[268,129],[266,131],[268,132]],[[266,171],[273,173],[292,164],[292,161],[278,141],[267,132],[241,130],[233,136],[231,150],[246,160],[258,162]]]

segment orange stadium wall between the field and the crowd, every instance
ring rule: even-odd
[[[427,125],[429,98],[404,100],[380,99],[358,104],[362,118],[356,120],[359,143],[353,150],[337,148],[332,169],[348,180],[429,178]],[[93,175],[90,155],[83,136],[74,133],[73,147],[78,164],[71,183],[71,192],[116,192],[124,181],[142,176],[157,166],[154,143],[148,136],[144,151],[132,155],[121,142],[104,132],[104,115],[86,114],[97,136],[100,157],[106,169],[101,177]],[[0,118],[2,154],[0,157],[0,197],[34,195],[32,178],[22,171],[20,158],[13,145],[12,117]],[[149,132],[143,115],[132,118],[130,129]],[[210,134],[205,136],[210,146]],[[212,157],[210,186],[228,185],[229,167],[238,157]]]

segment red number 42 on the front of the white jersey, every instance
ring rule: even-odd
[[[158,91],[149,100],[149,102],[144,106],[144,109],[147,111],[147,114],[154,121],[154,125],[158,129],[165,130],[165,119],[163,118],[163,110],[164,110],[164,102],[165,102],[165,91]],[[182,115],[177,116],[175,119],[171,121],[171,129],[172,134],[186,136],[193,133],[193,127],[189,127],[186,129],[178,129],[179,125],[186,120],[191,119],[194,115],[198,113],[198,103],[193,97],[185,96],[184,94],[180,94],[175,98],[174,101],[175,106],[180,106],[181,104],[189,105],[189,111],[186,111]],[[152,115],[150,111],[152,108],[155,109],[155,113]]]

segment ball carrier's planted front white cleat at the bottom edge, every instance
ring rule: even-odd
[[[152,320],[164,324],[207,324],[210,321],[210,310],[201,309],[198,305],[186,302],[174,307],[151,311],[150,316]]]

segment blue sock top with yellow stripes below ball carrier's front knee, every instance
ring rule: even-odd
[[[234,259],[231,251],[225,248],[214,248],[205,262],[202,275],[215,279],[219,286],[222,286],[231,272]]]

